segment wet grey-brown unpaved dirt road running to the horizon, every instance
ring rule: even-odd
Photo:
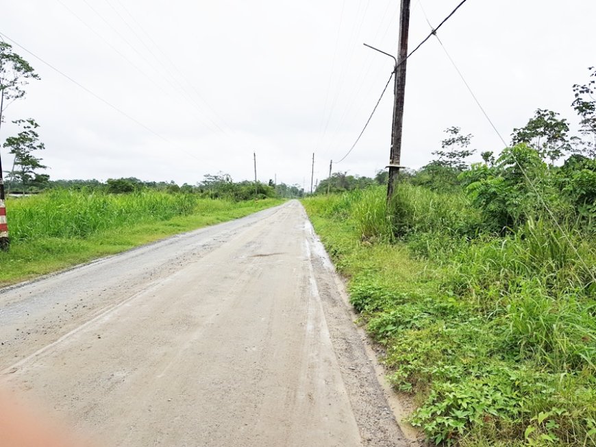
[[[0,293],[0,385],[98,446],[406,446],[299,202]]]

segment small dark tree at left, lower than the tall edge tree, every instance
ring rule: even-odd
[[[38,169],[45,169],[47,166],[41,164],[41,158],[33,155],[34,151],[45,149],[45,145],[40,143],[39,134],[36,129],[39,127],[34,119],[18,119],[12,121],[21,125],[23,130],[18,132],[17,136],[9,136],[3,147],[10,149],[10,154],[14,156],[12,171],[10,172],[10,184],[18,182],[23,187],[23,192],[27,191],[27,186],[39,178],[36,172]]]

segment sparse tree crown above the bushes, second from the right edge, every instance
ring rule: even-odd
[[[536,149],[543,160],[549,159],[553,165],[565,152],[571,150],[567,136],[569,124],[566,119],[559,119],[558,116],[552,110],[539,108],[523,128],[513,130],[513,145],[525,143]]]

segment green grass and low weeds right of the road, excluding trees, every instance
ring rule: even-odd
[[[463,193],[397,191],[391,219],[383,188],[303,204],[410,422],[438,445],[596,445],[593,236],[489,234]]]

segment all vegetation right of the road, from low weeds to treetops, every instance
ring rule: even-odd
[[[471,134],[448,128],[390,203],[383,186],[351,189],[342,176],[329,189],[346,192],[303,200],[432,444],[596,446],[590,71],[573,87],[578,136],[538,109],[510,147],[469,166]]]

